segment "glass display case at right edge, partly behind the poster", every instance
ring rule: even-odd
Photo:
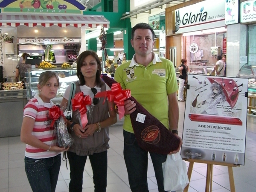
[[[248,93],[256,95],[256,66],[243,65],[236,77],[248,78]]]

